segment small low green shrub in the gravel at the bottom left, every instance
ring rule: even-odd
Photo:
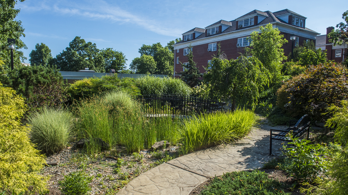
[[[85,172],[78,171],[64,176],[63,181],[58,181],[61,185],[61,191],[65,195],[85,195],[91,188],[89,183],[93,177],[88,177]]]

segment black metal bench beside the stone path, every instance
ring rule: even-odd
[[[295,124],[293,126],[293,124]],[[285,130],[280,129],[270,129],[270,137],[269,137],[269,155],[272,155],[272,139],[290,142],[291,140],[286,139],[286,134],[289,132],[293,132],[293,137],[300,137],[304,132],[307,131],[307,139],[309,138],[309,127],[310,120],[308,115],[304,115],[300,120],[290,120],[289,128]],[[273,133],[280,132],[280,133]]]

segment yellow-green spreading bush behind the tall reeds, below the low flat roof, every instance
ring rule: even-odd
[[[133,78],[120,79],[116,75],[78,80],[68,90],[71,96],[77,100],[98,96],[110,91],[126,91],[131,95],[140,95],[140,90]]]

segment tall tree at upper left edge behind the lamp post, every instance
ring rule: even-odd
[[[19,0],[23,2],[24,0]],[[1,0],[0,1],[0,58],[5,62],[3,67],[7,72],[11,67],[10,50],[7,49],[7,39],[16,40],[16,50],[14,50],[14,65],[21,65],[27,58],[19,49],[27,49],[26,45],[20,39],[25,37],[22,22],[15,20],[19,13],[19,9],[15,9],[17,0]]]

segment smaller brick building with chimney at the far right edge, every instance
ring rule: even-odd
[[[318,35],[317,41],[315,42],[316,49],[327,50],[326,56],[328,60],[335,60],[336,62],[343,62],[347,59],[347,43],[342,45],[334,46],[333,43],[329,42],[330,38],[327,37],[334,27],[330,26],[326,28],[326,35]],[[345,54],[345,55],[343,55]]]

